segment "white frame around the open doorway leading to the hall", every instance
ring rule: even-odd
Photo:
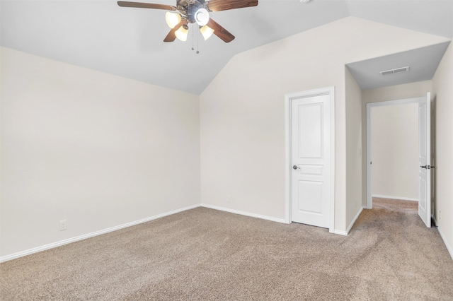
[[[411,103],[419,103],[419,102],[425,102],[426,101],[426,95],[421,96],[419,98],[406,98],[402,100],[388,100],[388,101],[382,101],[382,102],[369,102],[367,103],[367,209],[372,209],[373,207],[373,199],[372,199],[372,189],[371,189],[371,184],[372,184],[372,175],[371,175],[371,168],[370,168],[370,162],[372,162],[372,119],[371,119],[371,110],[373,107],[386,107],[386,106],[391,106],[391,105],[408,105]]]

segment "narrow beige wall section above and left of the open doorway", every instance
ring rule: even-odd
[[[432,81],[392,85],[362,91],[362,199],[367,206],[367,103],[419,98],[432,91]]]

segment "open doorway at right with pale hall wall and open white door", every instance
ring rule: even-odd
[[[430,93],[367,104],[367,208],[372,208],[373,196],[418,201],[418,215],[427,227],[432,203],[430,107]]]

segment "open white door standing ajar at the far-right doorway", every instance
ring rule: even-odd
[[[431,94],[418,104],[418,215],[431,227]]]

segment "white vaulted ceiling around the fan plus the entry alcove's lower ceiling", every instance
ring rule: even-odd
[[[143,2],[176,5],[176,0]],[[211,13],[236,36],[229,43],[215,36],[205,41],[193,28],[187,42],[165,43],[166,11],[124,8],[110,0],[1,0],[0,5],[1,46],[193,94],[202,93],[235,54],[348,16],[453,37],[453,0],[259,0],[256,7]],[[419,61],[423,55],[429,66],[420,72],[426,77],[446,47],[349,68],[352,74],[375,73],[373,66],[398,68],[401,57]]]

